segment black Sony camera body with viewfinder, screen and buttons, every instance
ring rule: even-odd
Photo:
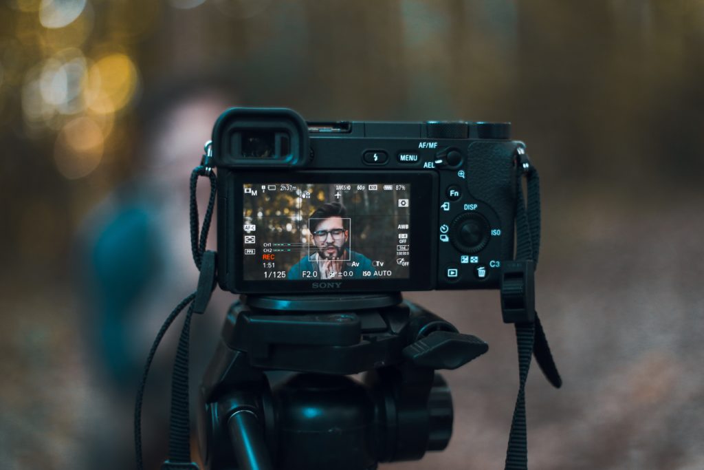
[[[228,109],[213,129],[218,283],[245,294],[498,288],[522,147],[509,123]]]

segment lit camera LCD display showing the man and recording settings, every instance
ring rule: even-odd
[[[410,276],[410,183],[244,183],[244,280]]]

